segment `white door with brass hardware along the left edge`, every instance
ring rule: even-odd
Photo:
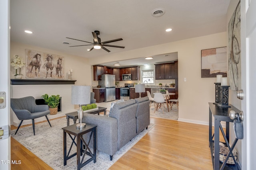
[[[10,137],[8,135],[8,126],[10,124],[9,4],[9,0],[0,0],[0,170],[10,169],[11,164],[11,145]],[[4,97],[4,93],[6,94],[6,97]],[[4,134],[2,135],[1,133],[3,132]]]

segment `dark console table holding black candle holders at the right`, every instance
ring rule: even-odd
[[[234,110],[236,113],[239,113],[240,110],[238,110],[236,107],[230,105],[231,107],[220,107],[213,103],[209,103],[209,145],[212,155],[212,165],[214,170],[223,170],[223,169],[231,169],[231,170],[241,170],[240,165],[235,161],[234,165],[230,164],[223,164],[220,162],[220,130],[222,132],[222,135],[225,139],[227,147],[229,147],[229,122],[233,122],[234,120],[230,119],[229,112],[231,110]],[[214,134],[212,135],[212,116],[214,117]],[[226,121],[226,135],[224,133],[224,130],[222,128],[222,125],[220,124],[220,121]],[[213,140],[214,137],[214,140]],[[236,145],[236,142],[238,139],[235,139],[232,146],[229,147],[229,150],[234,149],[234,146]],[[214,156],[213,156],[214,155]],[[229,156],[228,156],[229,157]]]

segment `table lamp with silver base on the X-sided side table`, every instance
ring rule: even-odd
[[[78,104],[80,109],[78,111],[79,123],[76,124],[77,128],[85,127],[86,123],[82,123],[84,111],[82,110],[83,104],[90,104],[91,86],[72,86],[71,89],[71,104]]]

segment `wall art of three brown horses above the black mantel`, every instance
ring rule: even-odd
[[[64,78],[64,57],[30,49],[25,53],[26,78]]]

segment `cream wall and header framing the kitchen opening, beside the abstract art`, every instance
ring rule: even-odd
[[[227,45],[227,33],[218,33],[185,39],[172,43],[126,51],[123,53],[108,54],[89,59],[89,63],[100,64],[112,61],[163,53],[178,52],[178,84],[179,84],[179,121],[208,125],[209,105],[215,102],[214,82],[216,78],[201,78],[201,50]],[[184,78],[187,79],[184,82]]]

